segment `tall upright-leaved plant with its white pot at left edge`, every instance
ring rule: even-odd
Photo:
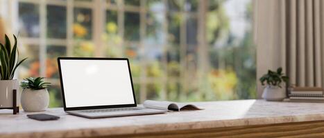
[[[0,108],[12,108],[12,90],[19,88],[17,79],[14,79],[15,70],[26,59],[18,61],[17,38],[11,46],[10,39],[5,35],[5,43],[0,43]],[[17,105],[19,105],[19,92],[17,92]]]

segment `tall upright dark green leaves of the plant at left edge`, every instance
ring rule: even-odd
[[[17,38],[15,38],[15,44],[11,49],[10,39],[5,35],[5,44],[0,43],[0,79],[12,80],[15,75],[17,67],[27,58],[17,61],[19,59],[19,53],[17,50]]]

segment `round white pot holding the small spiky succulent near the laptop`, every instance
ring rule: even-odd
[[[44,111],[49,106],[49,92],[46,88],[41,90],[22,90],[22,108],[27,112]]]

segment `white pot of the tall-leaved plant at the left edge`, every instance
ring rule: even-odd
[[[0,80],[0,108],[12,108],[12,90],[17,90],[17,105],[20,104],[19,82],[17,79]]]

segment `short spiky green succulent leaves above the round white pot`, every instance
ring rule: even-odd
[[[49,82],[44,82],[43,81],[44,77],[37,77],[37,78],[33,78],[33,77],[29,77],[24,79],[24,81],[22,81],[22,83],[20,83],[20,86],[22,88],[30,88],[32,90],[41,90],[44,88],[48,88],[49,86],[51,86]]]

